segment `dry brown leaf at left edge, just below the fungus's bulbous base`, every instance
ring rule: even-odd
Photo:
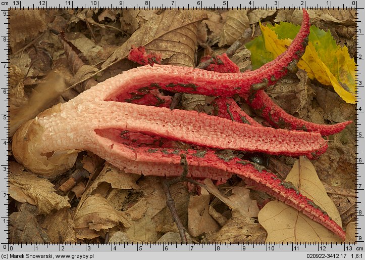
[[[34,203],[41,213],[46,214],[54,209],[70,207],[68,198],[56,194],[54,185],[48,180],[38,178],[31,172],[14,170],[12,165],[16,167],[16,164],[10,163],[9,183],[12,198]]]

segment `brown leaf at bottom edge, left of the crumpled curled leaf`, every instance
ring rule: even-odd
[[[40,226],[53,243],[77,242],[74,221],[68,208],[46,215]]]

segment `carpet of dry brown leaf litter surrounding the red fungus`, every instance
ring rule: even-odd
[[[355,18],[351,13],[309,11],[309,15],[313,24],[324,30],[330,29],[331,33],[335,32],[332,35],[337,44],[346,44],[350,56],[353,56],[355,47],[351,29],[355,28]],[[20,25],[19,17],[22,17],[22,21],[28,21],[31,29],[26,29],[24,22]],[[81,54],[86,57],[83,64],[90,68],[87,72],[78,70],[78,74],[72,76],[61,42],[46,29],[45,24],[49,21],[53,28],[65,30],[72,44],[81,50]],[[18,117],[32,118],[37,114],[32,111],[42,111],[53,105],[52,102],[67,101],[65,85],[78,85],[85,76],[92,75],[94,80],[102,81],[103,76],[114,76],[121,70],[135,66],[125,60],[132,46],[144,46],[146,51],[159,52],[163,55],[165,64],[195,66],[197,55],[204,56],[204,52],[213,52],[213,55],[215,52],[222,53],[219,46],[230,46],[234,40],[240,38],[244,29],[251,27],[253,34],[259,33],[258,21],[287,21],[298,24],[301,16],[290,10],[14,12],[10,20],[11,32],[16,33],[10,37],[13,53],[10,70],[11,120],[14,121],[14,125],[20,124],[21,119]],[[206,42],[203,42],[204,49],[197,53],[196,42],[201,43],[201,39],[204,39],[198,36],[197,28],[200,23],[204,26],[199,30],[205,29],[207,37]],[[42,45],[38,45],[38,42]],[[51,66],[44,66],[47,62],[44,58],[36,61],[34,50],[51,57]],[[256,42],[255,52],[251,50],[252,62],[255,59],[252,54],[260,53],[263,57],[268,55],[265,46]],[[71,54],[81,57],[77,53]],[[235,60],[243,70],[247,69],[246,57],[247,54],[243,54]],[[100,69],[103,72],[99,72]],[[45,91],[36,92],[35,85],[46,82],[44,77],[51,70],[64,76],[65,85],[51,81]],[[78,91],[69,90],[69,97],[77,95],[83,89],[77,87],[76,90]],[[40,100],[34,98],[37,97],[37,93],[41,97]],[[355,117],[352,105],[341,101],[330,88],[324,88],[318,82],[309,80],[305,71],[299,70],[296,75],[292,74],[283,79],[269,95],[289,113],[311,121],[328,123]],[[190,102],[190,109],[196,109],[194,102],[204,105],[206,101],[196,97]],[[27,111],[27,114],[19,111]],[[331,214],[336,214],[335,219],[339,221],[341,218],[344,227],[347,226],[349,241],[354,239],[355,221],[354,136],[353,126],[345,129],[339,136],[330,136],[329,152],[314,162],[320,179],[325,182],[326,190],[331,195],[331,201],[335,202],[334,205],[341,213],[336,213],[336,206],[332,205],[334,213]],[[62,180],[41,179],[29,172],[25,174],[25,170],[19,164],[12,165],[10,193],[13,198],[12,204],[18,205],[18,209],[11,214],[13,242],[75,242],[84,239],[103,242],[107,234],[109,241],[115,242],[152,242],[169,239],[179,241],[179,236],[176,236],[178,230],[166,206],[160,180],[155,177],[125,174],[109,164],[102,167],[102,160],[96,157],[89,154],[83,160],[80,158],[79,161],[91,174],[90,179],[78,183],[74,192],[70,192],[68,196],[58,195],[53,188],[60,186]],[[293,160],[282,157],[273,158],[274,160],[285,167],[291,167],[293,164]],[[276,237],[272,233],[268,221],[267,224],[263,224],[268,234],[257,223],[258,208],[257,202],[250,198],[252,192],[249,193],[240,182],[233,180],[232,183],[232,187],[227,188],[227,185],[223,185],[217,188],[206,180],[207,190],[201,188],[199,191],[197,188],[192,189],[192,193],[187,190],[186,183],[171,187],[178,214],[192,236],[189,239],[201,242],[283,241],[282,237]],[[326,190],[321,190],[319,204],[327,197]],[[36,206],[29,209],[30,204]],[[259,220],[265,212],[265,207],[264,211],[259,212]],[[289,215],[298,218],[298,214],[292,208],[286,211],[293,211]],[[304,220],[304,227],[285,226],[285,230],[309,228],[317,231],[321,228],[308,224],[309,221],[304,217],[300,219]],[[30,230],[22,228],[24,221],[31,223]],[[282,222],[283,220],[279,221]],[[276,225],[271,224],[271,228],[277,227]],[[57,230],[59,226],[65,228]],[[326,231],[324,233],[324,238],[313,238],[307,234],[309,237],[302,239],[336,241],[331,234],[328,235]]]

